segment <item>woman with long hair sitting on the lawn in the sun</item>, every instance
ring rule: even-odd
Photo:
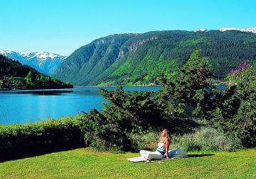
[[[156,151],[144,151],[141,150],[139,151],[139,154],[141,154],[142,157],[146,158],[146,160],[151,160],[151,159],[161,159],[166,155],[166,158],[168,159],[168,150],[170,146],[170,137],[169,137],[169,132],[167,129],[164,129],[161,132],[161,137],[159,139],[158,147],[156,148]]]

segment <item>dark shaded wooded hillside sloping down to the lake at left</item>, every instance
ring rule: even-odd
[[[38,88],[73,88],[73,86],[58,79],[52,79],[0,54],[0,90]]]

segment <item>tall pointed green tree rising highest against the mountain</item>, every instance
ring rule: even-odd
[[[159,103],[172,118],[185,117],[188,109],[193,110],[195,117],[209,117],[216,91],[212,79],[209,59],[201,57],[201,50],[196,50],[171,79],[161,78]]]

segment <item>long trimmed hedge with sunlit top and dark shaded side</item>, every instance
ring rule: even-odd
[[[81,118],[78,115],[26,125],[0,125],[0,160],[82,146]]]

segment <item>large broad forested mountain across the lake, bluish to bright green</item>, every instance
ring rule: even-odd
[[[237,30],[155,31],[110,35],[80,47],[53,76],[76,86],[157,83],[201,49],[213,64],[215,79],[223,79],[242,62],[255,64],[256,34]]]

